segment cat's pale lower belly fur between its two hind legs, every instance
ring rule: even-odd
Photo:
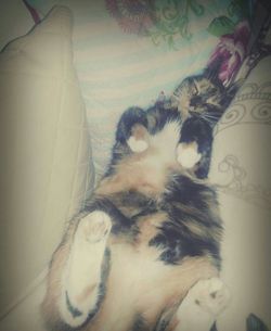
[[[164,308],[180,302],[195,282],[217,276],[206,257],[172,266],[159,262],[158,253],[146,246],[112,246],[106,295],[88,331],[128,331],[138,316],[152,329]]]

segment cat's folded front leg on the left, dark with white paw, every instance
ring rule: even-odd
[[[116,140],[127,143],[134,153],[144,152],[149,148],[146,113],[139,107],[128,109],[118,123]]]

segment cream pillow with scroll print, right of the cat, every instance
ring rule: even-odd
[[[253,69],[219,122],[210,178],[224,192],[271,207],[271,56]]]

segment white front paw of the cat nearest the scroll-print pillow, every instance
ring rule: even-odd
[[[177,147],[177,161],[186,169],[191,169],[201,160],[202,154],[197,152],[197,143],[179,143]]]

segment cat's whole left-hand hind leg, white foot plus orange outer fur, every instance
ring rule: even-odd
[[[93,211],[68,230],[52,260],[43,302],[51,328],[78,328],[98,311],[108,271],[111,227],[106,213]]]

